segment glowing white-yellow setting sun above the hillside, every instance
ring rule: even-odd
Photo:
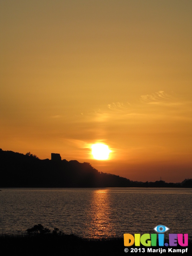
[[[96,160],[107,160],[110,152],[112,152],[107,145],[102,143],[96,143],[91,146],[92,155]]]

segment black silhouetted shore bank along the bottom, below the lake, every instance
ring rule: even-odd
[[[128,247],[128,252],[124,252],[125,246],[123,238],[109,238],[102,240],[88,240],[74,235],[66,234],[36,234],[36,235],[0,235],[0,250],[2,255],[14,256],[55,256],[55,255],[83,255],[83,256],[119,256],[119,255],[191,255],[192,243],[189,242],[187,252],[150,252],[147,247]],[[149,247],[158,250],[157,247]],[[175,247],[173,249],[186,249],[186,247]],[[139,251],[140,250],[140,251]],[[132,251],[132,252],[131,252]],[[137,252],[136,252],[137,251]],[[144,251],[144,252],[142,252]],[[174,253],[174,254],[172,254]]]

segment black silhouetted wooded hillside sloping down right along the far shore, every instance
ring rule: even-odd
[[[192,179],[181,183],[131,181],[114,174],[98,172],[91,164],[76,160],[40,160],[0,149],[0,187],[24,188],[103,188],[103,187],[175,187],[191,188]]]

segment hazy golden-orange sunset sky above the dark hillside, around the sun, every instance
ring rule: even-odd
[[[191,0],[2,0],[0,31],[2,150],[192,178]]]

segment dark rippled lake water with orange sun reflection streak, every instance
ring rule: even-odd
[[[85,238],[154,233],[163,224],[192,239],[191,188],[1,188],[0,233],[35,224]]]

